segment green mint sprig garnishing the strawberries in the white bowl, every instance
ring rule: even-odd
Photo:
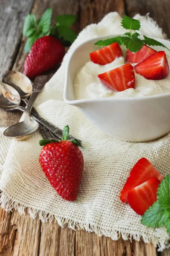
[[[122,18],[121,26],[130,31],[125,32],[123,36],[108,38],[106,40],[99,40],[95,43],[95,45],[108,46],[110,44],[117,42],[119,45],[125,45],[126,48],[129,49],[131,52],[138,52],[144,44],[153,46],[156,45],[167,48],[166,46],[164,46],[164,44],[161,44],[159,41],[156,41],[155,39],[148,38],[146,36],[144,36],[144,39],[140,39],[138,32],[132,33],[132,31],[140,29],[141,24],[139,20],[133,19],[125,15]],[[170,51],[170,49],[168,50]]]

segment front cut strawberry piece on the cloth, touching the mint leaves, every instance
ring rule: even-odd
[[[127,202],[133,211],[139,215],[143,215],[153,205],[157,200],[156,192],[159,184],[160,180],[154,177],[128,192]]]

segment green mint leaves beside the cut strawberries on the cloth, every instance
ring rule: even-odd
[[[142,215],[147,227],[163,227],[170,234],[170,174],[163,178],[157,191],[157,201]]]

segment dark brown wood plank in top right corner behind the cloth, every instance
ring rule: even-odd
[[[133,17],[136,13],[146,15],[156,20],[158,25],[170,38],[170,0],[126,0],[127,15]]]

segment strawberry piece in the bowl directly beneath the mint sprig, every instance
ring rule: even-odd
[[[129,49],[126,51],[126,61],[130,63],[139,63],[144,61],[144,59],[148,58],[153,53],[157,51],[150,48],[147,45],[143,45],[143,47],[138,52],[130,52]]]

